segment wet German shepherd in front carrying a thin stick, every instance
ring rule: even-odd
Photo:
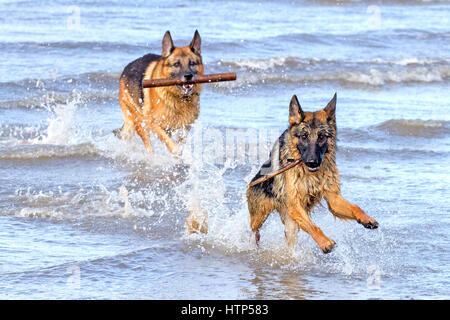
[[[259,229],[273,210],[278,211],[285,228],[287,245],[297,241],[298,229],[307,232],[324,253],[331,252],[335,242],[327,238],[311,221],[312,208],[325,198],[328,209],[340,219],[356,220],[368,229],[378,223],[357,205],[340,194],[336,168],[336,94],[327,106],[316,112],[303,112],[297,96],[289,106],[289,128],[273,146],[255,181],[301,159],[302,162],[247,190],[250,227],[258,244]]]

